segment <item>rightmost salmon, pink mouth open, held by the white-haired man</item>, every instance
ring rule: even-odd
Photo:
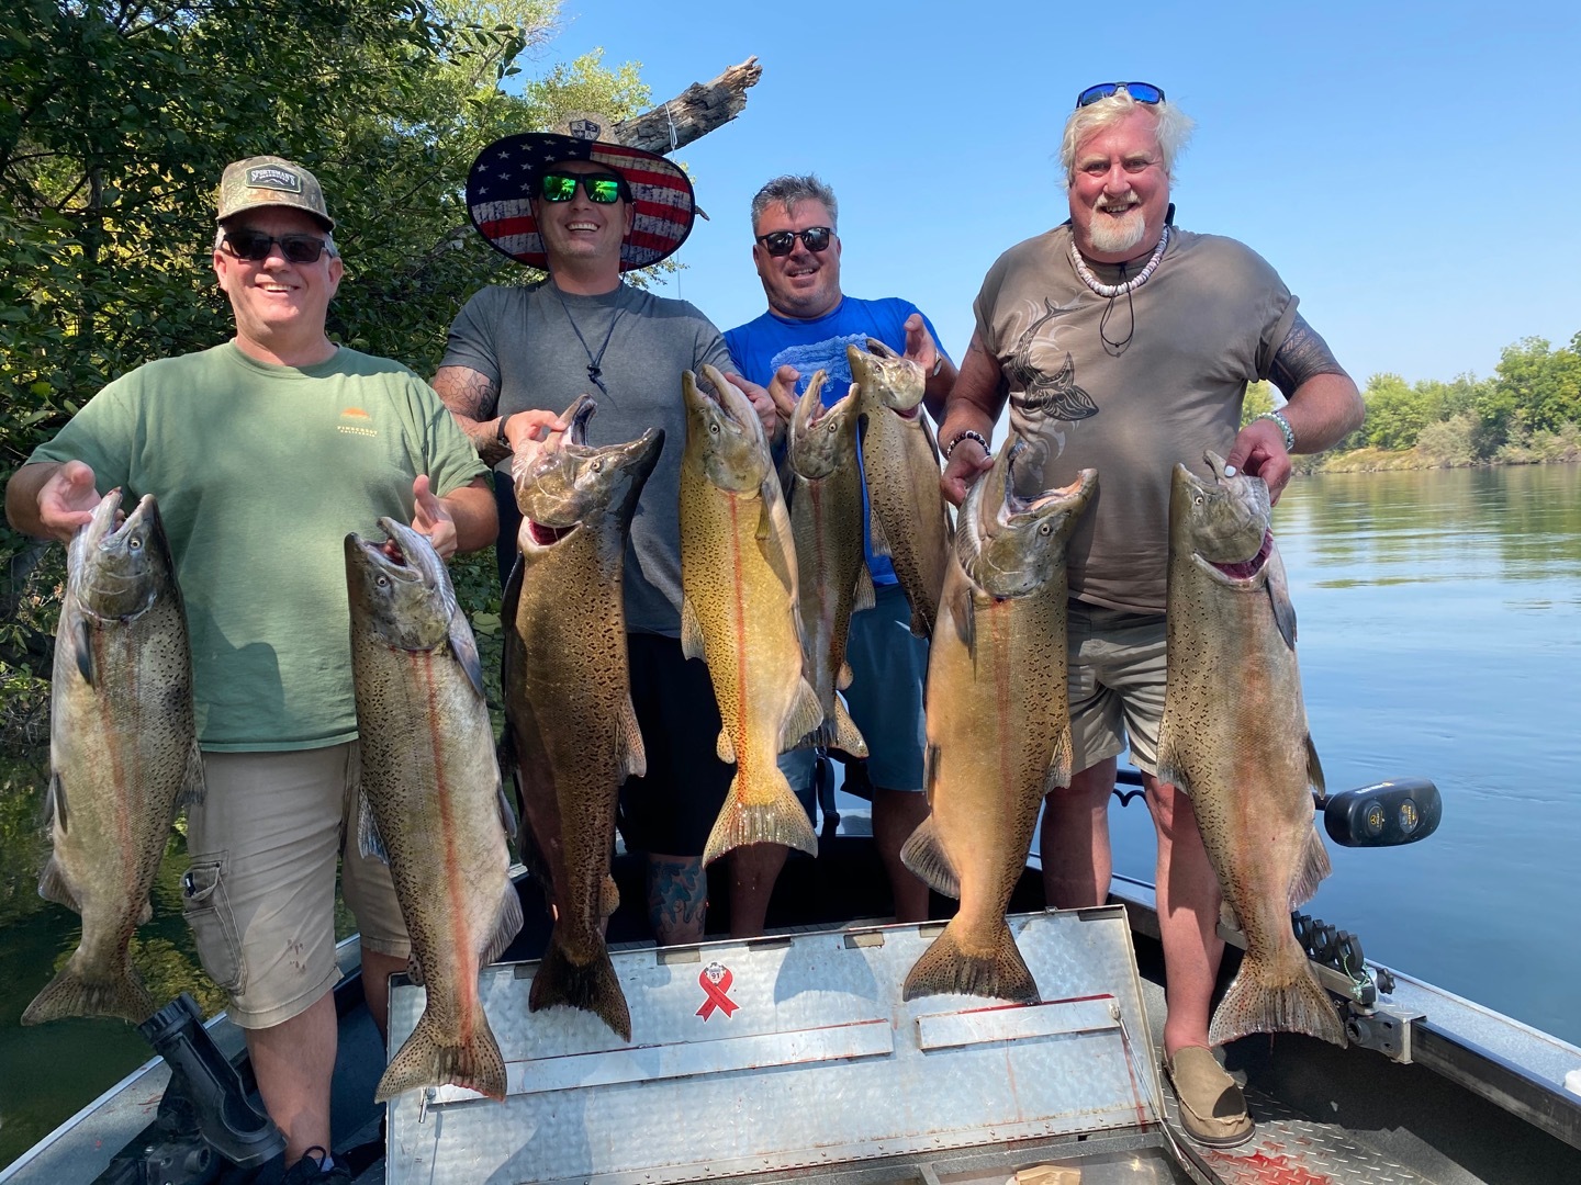
[[[1330,872],[1312,818],[1323,771],[1307,735],[1295,610],[1268,531],[1268,487],[1175,466],[1170,485],[1168,681],[1159,781],[1190,795],[1208,860],[1246,935],[1246,959],[1213,1014],[1211,1044],[1345,1030],[1290,929]]]

